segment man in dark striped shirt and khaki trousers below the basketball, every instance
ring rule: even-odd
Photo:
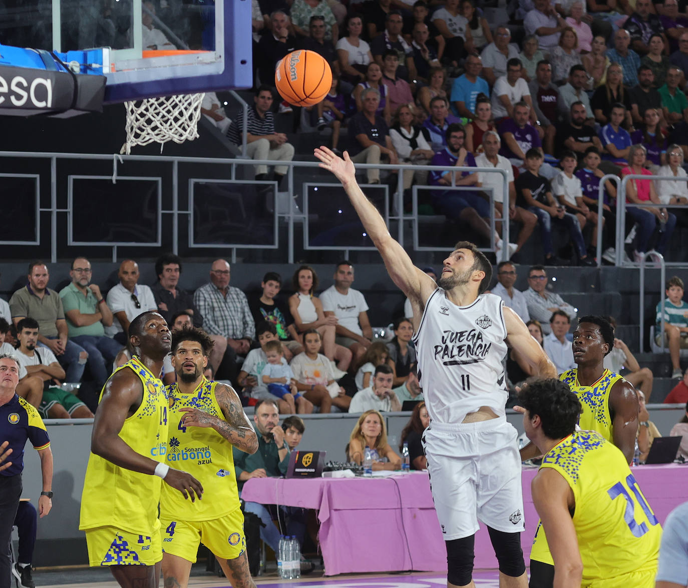
[[[272,117],[272,91],[262,85],[253,97],[254,105],[246,111],[246,154],[253,160],[275,160],[290,162],[294,157],[294,146],[287,142],[287,135],[275,133],[275,119]],[[241,131],[244,128],[244,113],[240,112],[229,125],[227,138],[241,145]],[[256,179],[266,180],[268,166],[257,165]],[[273,180],[279,181],[287,173],[286,166],[275,166]]]

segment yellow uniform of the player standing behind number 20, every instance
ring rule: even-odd
[[[619,380],[623,380],[621,375],[605,369],[601,378],[594,382],[592,386],[583,386],[578,381],[578,369],[570,369],[559,375],[559,380],[566,382],[571,391],[581,401],[583,411],[579,419],[579,426],[585,431],[596,431],[604,439],[612,442],[614,431],[612,426],[612,413],[609,409],[609,395],[612,386]],[[533,549],[530,550],[530,559],[554,565],[550,548],[547,545],[547,538],[540,523],[537,525],[535,538],[533,539]]]

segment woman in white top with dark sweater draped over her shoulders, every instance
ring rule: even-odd
[[[394,124],[391,129],[389,129],[389,138],[391,138],[391,144],[393,144],[394,149],[396,149],[399,162],[427,165],[434,153],[427,140],[425,140],[420,127],[412,124],[414,109],[415,107],[412,103],[402,104],[396,109]],[[416,184],[420,184],[420,186],[427,184],[427,171],[405,169],[405,190],[411,188],[414,176],[416,177]]]

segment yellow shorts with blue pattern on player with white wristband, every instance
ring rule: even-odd
[[[118,527],[87,529],[86,545],[91,567],[155,565],[162,560],[160,521],[155,521],[151,536],[138,535]]]

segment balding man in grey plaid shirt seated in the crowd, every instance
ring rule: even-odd
[[[208,334],[227,339],[223,364],[236,375],[236,356],[245,356],[255,337],[255,323],[248,307],[246,294],[229,285],[230,266],[224,259],[216,259],[211,266],[211,281],[193,294],[193,303],[203,316],[203,328]]]

